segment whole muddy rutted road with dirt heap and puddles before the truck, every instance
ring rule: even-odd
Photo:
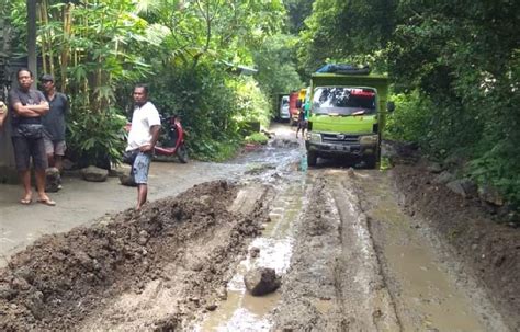
[[[20,240],[0,270],[0,330],[519,329],[516,290],[504,300],[472,273],[432,218],[409,208],[397,170],[307,169],[293,128],[273,130],[268,146],[211,164],[211,176],[200,163],[182,176],[190,184],[158,178],[180,195],[139,213],[99,207],[101,218],[67,232]],[[249,295],[255,267],[273,268],[281,287]]]

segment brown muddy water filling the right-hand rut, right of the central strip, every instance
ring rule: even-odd
[[[402,329],[506,331],[485,296],[442,261],[429,230],[406,216],[394,196],[385,195],[392,192],[387,174],[365,171],[357,175]]]

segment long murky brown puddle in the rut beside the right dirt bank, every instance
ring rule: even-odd
[[[395,283],[391,289],[395,288],[392,293],[403,330],[486,331],[472,309],[472,299],[457,288],[418,226],[387,194],[391,191],[387,183],[381,183],[383,176],[376,178],[362,183],[368,195],[377,199],[368,214],[383,228],[378,242],[386,273]]]

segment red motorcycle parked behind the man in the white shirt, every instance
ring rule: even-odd
[[[167,118],[161,116],[162,129],[166,131],[166,138],[159,138],[156,144],[154,153],[156,156],[177,156],[180,162],[188,162],[188,150],[184,145],[184,130],[182,129],[181,119],[179,115],[171,115]],[[127,123],[125,129],[129,133],[132,123]]]

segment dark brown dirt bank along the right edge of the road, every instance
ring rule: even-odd
[[[500,224],[481,201],[436,184],[426,161],[397,164],[393,174],[405,210],[420,215],[446,239],[511,330],[520,330],[520,229]]]

